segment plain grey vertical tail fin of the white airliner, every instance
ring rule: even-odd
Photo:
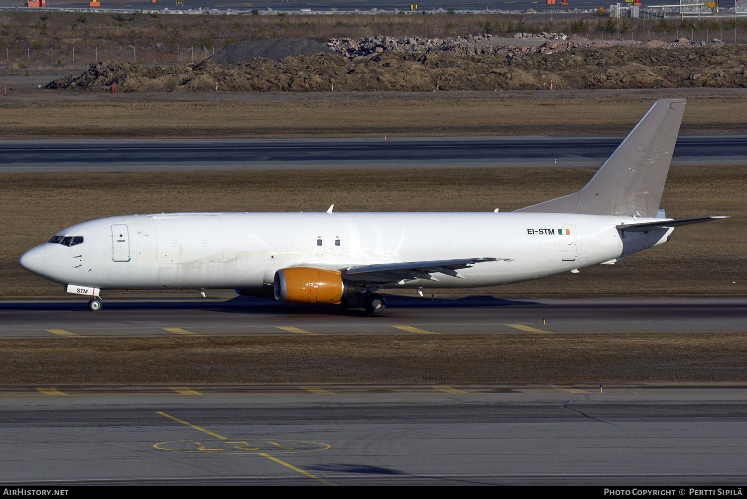
[[[579,191],[515,211],[656,217],[684,98],[660,98]]]

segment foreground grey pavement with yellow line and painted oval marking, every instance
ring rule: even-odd
[[[742,486],[746,393],[730,384],[7,387],[0,484]]]

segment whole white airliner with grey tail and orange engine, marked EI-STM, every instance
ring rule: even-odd
[[[669,240],[659,202],[685,99],[660,99],[578,192],[510,213],[168,213],[73,225],[20,265],[102,289],[236,289],[381,312],[388,288],[466,288],[613,264]]]

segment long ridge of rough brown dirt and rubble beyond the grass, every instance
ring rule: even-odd
[[[542,90],[672,87],[747,87],[747,48],[575,47],[545,43],[541,51],[460,54],[382,51],[347,60],[332,54],[254,58],[221,66],[137,66],[106,61],[47,88],[124,92],[291,92],[335,90]]]

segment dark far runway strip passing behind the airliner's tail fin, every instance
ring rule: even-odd
[[[0,172],[600,166],[623,136],[4,140]],[[746,134],[680,135],[672,164],[747,163]]]

